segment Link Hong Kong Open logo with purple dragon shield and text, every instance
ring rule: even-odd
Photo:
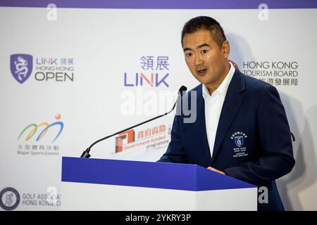
[[[35,67],[33,67],[35,64]],[[10,56],[10,70],[14,79],[20,84],[29,79],[34,70],[34,78],[38,82],[73,82],[73,58],[35,57],[25,53]]]

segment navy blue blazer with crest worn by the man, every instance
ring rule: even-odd
[[[171,141],[158,162],[211,166],[236,179],[266,186],[268,203],[258,201],[258,210],[283,210],[275,179],[289,173],[295,160],[290,126],[278,91],[271,84],[235,70],[211,157],[201,85],[182,97],[182,101],[188,98],[190,105],[192,91],[197,91],[197,120],[184,123],[184,114],[175,115]]]

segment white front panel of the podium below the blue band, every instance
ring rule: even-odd
[[[62,182],[62,210],[256,210],[256,188],[183,191]]]

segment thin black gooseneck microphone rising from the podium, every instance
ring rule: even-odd
[[[181,86],[181,87],[180,87],[180,89],[178,90],[178,98],[176,99],[176,101],[175,101],[175,103],[174,103],[174,105],[173,105],[173,108],[172,108],[170,111],[168,111],[167,113],[164,113],[164,114],[159,115],[159,116],[157,116],[157,117],[154,117],[154,118],[152,118],[152,119],[150,119],[150,120],[146,120],[146,121],[141,122],[141,123],[139,123],[139,124],[136,124],[136,125],[134,125],[134,126],[132,126],[132,127],[128,127],[128,128],[126,128],[126,129],[123,129],[122,131],[116,132],[115,134],[111,134],[111,135],[109,135],[109,136],[105,136],[104,138],[95,141],[94,143],[92,143],[91,146],[89,146],[89,147],[82,153],[82,155],[80,156],[80,158],[89,158],[89,157],[90,157],[89,151],[91,150],[92,146],[94,146],[95,144],[97,144],[97,143],[100,142],[100,141],[104,141],[104,140],[110,138],[111,136],[115,136],[116,134],[120,134],[120,133],[122,133],[122,132],[124,132],[124,131],[128,131],[129,129],[132,129],[132,128],[135,128],[135,127],[139,127],[139,126],[142,125],[142,124],[145,124],[145,123],[147,123],[147,122],[151,122],[152,120],[156,120],[156,119],[158,119],[159,117],[163,117],[163,116],[165,116],[165,115],[168,115],[169,113],[172,113],[172,111],[173,111],[174,108],[175,108],[176,103],[178,103],[178,101],[180,101],[180,98],[182,98],[182,96],[185,94],[186,91],[187,91],[187,87],[186,87],[186,86]]]

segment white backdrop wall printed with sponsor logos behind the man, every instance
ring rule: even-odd
[[[58,210],[62,156],[79,157],[93,141],[170,110],[181,85],[198,84],[183,58],[182,25],[209,15],[225,30],[230,60],[247,75],[258,71],[256,78],[280,92],[296,139],[296,165],[278,180],[286,210],[317,210],[316,8],[269,9],[268,20],[259,20],[257,8],[57,8],[56,20],[48,20],[48,12],[45,6],[0,7],[0,191],[11,187],[20,197],[13,206],[19,197],[9,191],[1,195],[2,203],[16,210]],[[10,56],[22,53],[32,56],[32,72],[29,68],[30,77],[20,84]],[[140,86],[141,73],[148,79],[154,73],[153,87],[144,78]],[[168,74],[159,86],[156,73],[158,82]],[[43,74],[54,79],[41,80]],[[125,86],[136,85],[136,77],[137,88]],[[123,140],[121,153],[116,153],[118,136],[98,143],[92,157],[158,160],[172,121],[170,115],[138,127],[134,141]],[[63,123],[56,141],[58,125],[37,140],[54,122]],[[38,125],[35,134],[26,140],[29,127],[18,139],[29,124]]]

